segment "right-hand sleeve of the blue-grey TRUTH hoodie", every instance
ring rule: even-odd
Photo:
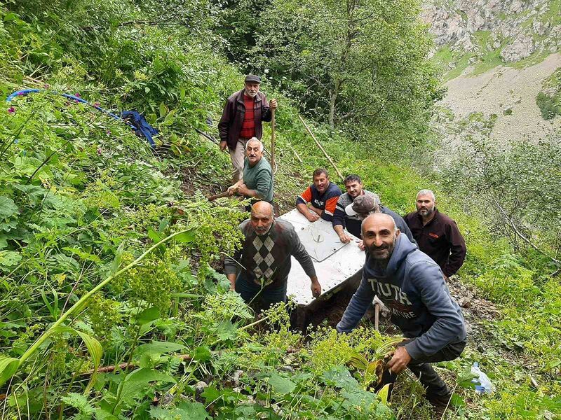
[[[413,358],[432,356],[447,344],[465,337],[466,325],[457,304],[454,304],[440,267],[433,262],[418,262],[409,273],[421,295],[421,302],[428,312],[435,316],[431,328],[421,337],[405,344],[407,353]]]

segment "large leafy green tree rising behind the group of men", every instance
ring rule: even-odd
[[[260,20],[255,64],[331,127],[407,120],[433,101],[416,0],[273,0]]]

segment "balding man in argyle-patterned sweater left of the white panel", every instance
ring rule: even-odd
[[[271,204],[253,204],[251,218],[241,223],[240,230],[245,236],[243,246],[233,257],[224,260],[224,272],[232,290],[240,293],[245,302],[252,302],[259,296],[264,309],[284,302],[292,255],[310,277],[313,297],[321,294],[310,255],[294,227],[274,218]]]

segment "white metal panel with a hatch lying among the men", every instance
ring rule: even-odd
[[[323,293],[337,288],[363,268],[365,253],[358,248],[358,238],[347,232],[353,241],[349,244],[342,244],[333,230],[331,222],[320,219],[311,223],[297,209],[283,214],[280,218],[292,223],[306,251],[312,256]],[[320,235],[323,240],[315,241],[312,238],[313,235],[316,235],[316,238],[317,235]],[[330,251],[330,255],[325,255],[328,251]],[[318,260],[319,258],[316,256],[325,256],[325,258]],[[302,306],[306,306],[313,300],[310,279],[294,257],[292,257],[292,269],[288,276],[286,293],[289,296],[292,295],[295,302]]]

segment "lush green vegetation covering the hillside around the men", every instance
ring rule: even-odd
[[[0,93],[41,90],[0,110],[2,418],[433,418],[421,386],[406,374],[391,402],[372,392],[375,367],[395,337],[367,320],[350,335],[323,325],[304,337],[289,329],[282,305],[256,321],[220,274],[224,254],[240,244],[237,226],[247,214],[238,200],[206,199],[228,185],[230,163],[195,129],[212,130],[205,120],[219,118],[224,99],[241,88],[242,71],[250,69],[274,74],[263,90],[280,102],[281,209],[293,206],[314,168],[329,166],[304,135],[302,112],[342,172],[363,176],[388,207],[403,214],[412,210],[417,190],[433,188],[439,208],[464,232],[468,259],[459,277],[480,304],[490,300],[497,310],[487,320],[473,311],[464,355],[439,365],[456,394],[446,415],[559,418],[561,171],[558,160],[546,165],[557,151],[513,149],[506,158],[489,151],[487,160],[475,160],[473,179],[431,172],[429,120],[442,91],[424,55],[405,59],[407,48],[430,47],[418,5],[396,3],[372,18],[362,4],[327,2],[325,19],[373,19],[368,31],[352,32],[353,48],[385,35],[381,51],[347,51],[383,57],[376,72],[314,73],[318,85],[339,80],[344,87],[334,102],[306,77],[327,52],[307,39],[309,55],[291,66],[290,57],[308,48],[293,38],[286,56],[267,55],[266,36],[252,38],[251,27],[241,25],[251,1],[13,0],[0,6]],[[286,0],[267,5],[263,19],[271,25],[296,25],[306,12]],[[260,19],[252,24],[258,27]],[[226,24],[237,29],[231,37]],[[349,41],[344,28],[333,25],[333,32],[324,35]],[[259,45],[244,57],[263,55],[255,67],[234,60],[232,43],[240,38],[248,51]],[[407,77],[392,78],[405,70]],[[353,89],[362,83],[379,87],[372,92],[377,96],[356,96]],[[393,94],[383,97],[388,90]],[[111,111],[141,111],[161,132],[156,148],[61,92]],[[363,121],[372,101],[387,106]],[[265,143],[269,136],[266,127]],[[511,176],[513,168],[525,169],[527,182]],[[529,203],[527,214],[512,215],[534,247],[512,236],[496,212],[480,211],[485,203],[466,202],[468,193],[485,197],[482,188],[511,200],[511,211]],[[554,231],[546,222],[555,220]],[[477,395],[469,385],[473,361],[494,381],[494,394]]]

